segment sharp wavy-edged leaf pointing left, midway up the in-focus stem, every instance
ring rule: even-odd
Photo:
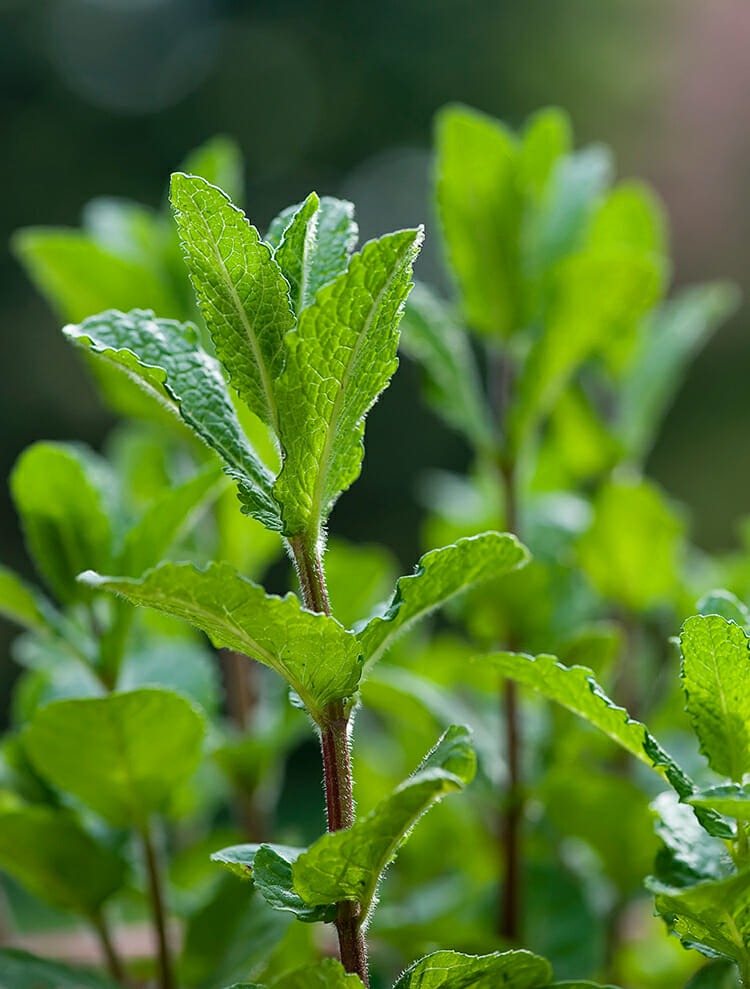
[[[318,722],[325,707],[351,697],[361,663],[356,637],[333,618],[305,611],[293,594],[266,594],[228,563],[197,570],[164,563],[141,580],[85,574],[89,586],[122,594],[202,629],[217,648],[252,656],[280,673]]]

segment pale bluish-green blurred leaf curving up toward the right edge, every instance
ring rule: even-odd
[[[616,410],[618,436],[633,456],[649,452],[685,368],[738,302],[734,285],[712,282],[683,289],[648,317]]]

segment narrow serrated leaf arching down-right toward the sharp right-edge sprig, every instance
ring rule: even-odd
[[[604,693],[585,666],[562,666],[554,656],[527,656],[501,652],[481,657],[503,676],[537,690],[584,718],[618,743],[636,759],[665,777],[677,794],[686,799],[696,786],[640,721],[635,721],[623,707],[618,707]],[[697,814],[709,834],[731,838],[733,832],[710,812]]]

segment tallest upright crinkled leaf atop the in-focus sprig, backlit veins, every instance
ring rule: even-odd
[[[185,261],[216,353],[238,394],[279,431],[274,382],[294,326],[287,284],[242,210],[198,176],[172,176]]]

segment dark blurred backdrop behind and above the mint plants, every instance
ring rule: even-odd
[[[741,0],[0,0],[2,475],[34,439],[100,446],[113,422],[13,258],[12,231],[77,226],[99,195],[157,206],[169,172],[216,133],[246,156],[259,226],[311,188],[356,202],[365,238],[423,221],[417,276],[440,284],[435,110],[461,100],[517,126],[559,104],[579,143],[610,144],[621,177],[663,197],[678,284],[742,284],[748,29]],[[693,366],[648,465],[711,549],[733,545],[747,511],[746,321],[741,312]],[[363,475],[333,530],[386,543],[410,566],[424,471],[461,469],[467,456],[402,368],[370,417]],[[0,558],[28,573],[5,489],[0,499]],[[7,684],[7,662],[2,675]]]

